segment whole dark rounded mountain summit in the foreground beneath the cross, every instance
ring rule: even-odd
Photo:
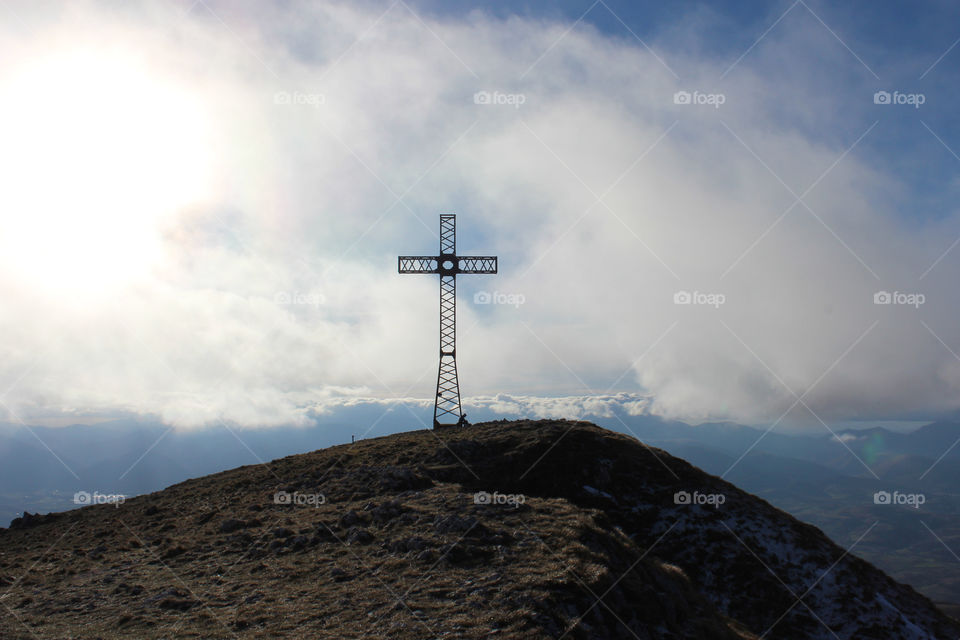
[[[849,542],[595,425],[491,422],[24,516],[0,637],[960,638]]]

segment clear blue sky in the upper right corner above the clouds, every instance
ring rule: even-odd
[[[904,214],[918,218],[946,215],[944,208],[960,195],[955,182],[960,160],[960,122],[953,88],[960,80],[955,47],[960,7],[951,2],[845,2],[810,0],[797,2],[438,2],[411,3],[426,15],[463,18],[479,11],[507,19],[563,20],[574,28],[594,28],[604,35],[636,45],[637,38],[650,46],[669,46],[671,32],[690,25],[697,38],[690,45],[698,54],[733,62],[741,55],[763,55],[758,39],[764,33],[789,32],[806,24],[818,24],[836,34],[828,46],[849,47],[848,59],[839,67],[824,66],[825,75],[849,78],[866,87],[921,92],[929,97],[922,113],[855,107],[861,122],[870,118],[883,123],[882,135],[869,138],[865,157],[909,180],[911,199],[902,203]],[[842,41],[842,42],[841,42]],[[748,50],[754,48],[749,53]],[[798,52],[811,54],[812,52]],[[863,64],[861,64],[859,57]],[[669,64],[669,60],[667,60]],[[750,61],[747,61],[749,65]],[[746,65],[745,65],[746,66]],[[869,68],[867,68],[869,67]],[[789,74],[789,68],[783,70]],[[874,75],[875,74],[875,75]],[[825,83],[825,89],[829,83]],[[722,86],[718,81],[717,86]],[[921,117],[943,142],[920,122]],[[850,124],[847,120],[844,124]],[[823,133],[822,126],[815,128]],[[947,149],[944,146],[949,146]]]

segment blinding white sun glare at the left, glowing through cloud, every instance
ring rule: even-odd
[[[142,64],[90,52],[0,78],[0,262],[55,293],[115,289],[162,255],[160,226],[202,200],[197,100]]]

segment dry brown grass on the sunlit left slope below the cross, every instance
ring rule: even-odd
[[[730,635],[682,581],[663,594],[675,620],[635,609],[673,574],[600,512],[532,495],[478,505],[436,480],[449,465],[435,438],[362,441],[6,531],[0,636],[587,638],[660,624]],[[429,469],[412,464],[430,462],[425,448]],[[274,504],[277,490],[326,502]]]

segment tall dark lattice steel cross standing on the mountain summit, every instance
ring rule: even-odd
[[[457,381],[457,274],[496,273],[497,256],[458,256],[457,216],[443,213],[440,214],[440,255],[400,256],[397,268],[400,273],[440,275],[440,368],[433,428],[464,426],[466,419],[460,408]],[[453,418],[457,421],[441,422]]]

